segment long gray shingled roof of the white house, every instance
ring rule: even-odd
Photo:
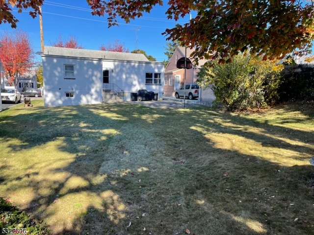
[[[68,57],[79,57],[79,58],[90,58],[90,59],[139,61],[139,62],[149,61],[144,54],[104,51],[104,50],[76,49],[76,48],[67,48],[67,47],[45,46],[45,50],[42,56],[45,56],[45,55],[68,56]]]

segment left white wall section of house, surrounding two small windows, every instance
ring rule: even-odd
[[[102,60],[42,55],[45,106],[99,104],[103,101]],[[74,65],[75,79],[64,78],[64,65]],[[73,92],[73,97],[66,97]]]

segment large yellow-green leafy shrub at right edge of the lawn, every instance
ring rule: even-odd
[[[210,87],[216,104],[228,110],[263,108],[277,102],[280,71],[283,66],[239,54],[227,64],[214,62],[198,73],[198,83]]]

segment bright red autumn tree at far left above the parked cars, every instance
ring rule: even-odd
[[[16,86],[19,78],[33,66],[33,51],[26,32],[4,32],[0,37],[0,60],[8,84]]]

